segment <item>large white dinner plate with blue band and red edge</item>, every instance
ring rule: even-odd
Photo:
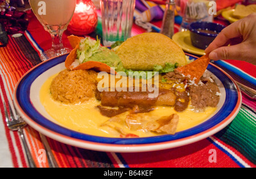
[[[197,58],[186,55],[191,60]],[[46,104],[42,102],[42,88],[47,84],[47,80],[65,69],[67,56],[59,56],[35,66],[18,81],[14,91],[14,105],[26,123],[61,143],[104,152],[146,152],[179,147],[216,134],[232,122],[241,107],[241,92],[234,80],[224,70],[209,64],[207,72],[214,76],[221,95],[216,110],[201,122],[191,127],[180,128],[175,134],[135,138],[94,135],[93,130],[87,134],[86,131],[80,130],[81,128],[71,127],[67,123],[56,120],[52,114],[49,114]],[[51,113],[54,113],[54,106],[49,108],[52,108]],[[74,113],[80,112],[78,110]],[[79,120],[74,122],[76,126],[86,126],[85,118],[90,117],[95,118],[95,120],[97,116],[100,118],[100,113],[97,115],[92,113],[96,112],[88,110],[81,113]]]

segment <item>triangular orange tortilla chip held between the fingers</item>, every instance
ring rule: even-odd
[[[209,54],[207,54],[193,61],[192,63],[181,66],[175,70],[181,74],[184,74],[184,76],[189,77],[190,80],[197,84],[200,81],[200,78],[203,76],[209,63]]]

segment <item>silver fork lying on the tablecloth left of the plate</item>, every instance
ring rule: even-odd
[[[26,151],[28,165],[30,166],[30,168],[36,168],[35,161],[30,153],[30,149],[28,148],[27,141],[23,133],[23,128],[27,124],[24,122],[24,120],[20,116],[18,116],[18,113],[16,113],[15,108],[14,108],[14,111],[15,111],[15,114],[14,114],[13,109],[11,109],[10,103],[8,103],[8,105],[9,105],[10,116],[8,114],[5,102],[3,102],[3,107],[5,108],[5,120],[7,123],[7,127],[12,131],[18,131],[18,134],[22,139],[22,143]]]

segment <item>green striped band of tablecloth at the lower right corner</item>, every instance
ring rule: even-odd
[[[256,118],[245,106],[233,122],[215,136],[256,164]]]

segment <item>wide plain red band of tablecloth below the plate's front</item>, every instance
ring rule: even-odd
[[[210,149],[216,151],[217,163],[210,163]],[[122,153],[123,159],[131,168],[164,167],[239,167],[230,157],[210,143],[207,139],[193,144],[167,149],[164,151],[143,153]],[[157,157],[157,158],[156,158]]]

